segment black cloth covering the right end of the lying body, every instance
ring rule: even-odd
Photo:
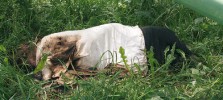
[[[154,56],[159,63],[163,64],[164,62],[164,51],[170,46],[172,47],[176,43],[176,49],[182,50],[187,56],[191,55],[192,52],[182,43],[175,33],[167,28],[149,26],[141,28],[146,49],[150,50],[151,47],[154,48]],[[176,58],[178,59],[178,58]]]

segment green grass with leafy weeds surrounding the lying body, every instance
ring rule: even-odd
[[[0,99],[223,99],[223,28],[174,0],[1,0]],[[177,33],[201,62],[178,73],[154,65],[147,77],[99,74],[56,92],[42,88],[18,47],[44,35],[103,23],[156,25]],[[18,63],[18,59],[22,59]],[[170,67],[170,66],[167,66]]]

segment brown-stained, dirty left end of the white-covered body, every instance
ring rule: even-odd
[[[61,72],[66,72],[75,55],[78,54],[78,35],[51,34],[45,36],[37,45],[36,62],[38,63],[43,54],[47,54],[47,61],[43,68],[44,80],[58,77]],[[60,70],[58,70],[60,69]]]

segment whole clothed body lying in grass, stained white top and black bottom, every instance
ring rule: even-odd
[[[141,71],[147,71],[145,49],[154,47],[154,57],[160,64],[165,63],[164,50],[166,47],[181,49],[186,55],[191,51],[182,43],[175,33],[161,27],[127,26],[118,23],[104,24],[83,30],[64,31],[45,36],[37,46],[36,62],[44,53],[48,53],[47,63],[42,70],[43,79],[50,79],[52,72],[58,69],[66,72],[60,61],[69,66],[73,62],[80,69],[104,69],[109,64],[128,65],[137,71],[134,63]],[[126,63],[119,53],[124,48]],[[59,61],[57,60],[59,59]],[[176,58],[175,61],[177,61]],[[175,62],[173,61],[173,62]],[[57,74],[56,76],[58,76]]]

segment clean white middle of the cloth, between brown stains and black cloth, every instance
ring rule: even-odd
[[[134,63],[140,65],[146,65],[147,60],[144,53],[145,41],[143,33],[138,26],[125,26],[118,23],[104,24],[92,28],[88,28],[81,31],[81,47],[80,55],[83,67],[96,66],[98,69],[103,69],[108,64],[119,63],[124,65],[119,48],[125,49],[125,55],[127,56],[128,65]],[[111,56],[111,53],[113,57]],[[104,55],[102,55],[105,53]],[[100,60],[100,58],[103,58]],[[117,61],[116,61],[117,59]],[[100,61],[98,63],[98,61]],[[145,70],[147,67],[142,68]]]

